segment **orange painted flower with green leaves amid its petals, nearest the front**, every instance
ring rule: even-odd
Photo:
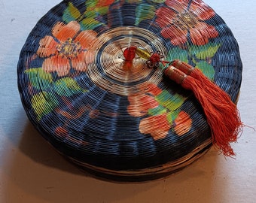
[[[192,120],[180,107],[184,102],[181,95],[171,95],[151,83],[141,87],[141,93],[128,96],[128,113],[133,117],[143,117],[139,124],[142,134],[149,134],[158,140],[166,138],[170,129],[177,135],[184,135],[190,130]]]

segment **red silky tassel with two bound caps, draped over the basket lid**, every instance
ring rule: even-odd
[[[230,96],[212,83],[199,69],[179,61],[171,64],[163,71],[164,74],[181,84],[184,89],[194,92],[212,130],[212,143],[224,153],[224,156],[235,156],[230,142],[237,141],[243,124],[239,118],[239,111]]]

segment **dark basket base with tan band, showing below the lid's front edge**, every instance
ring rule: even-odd
[[[181,171],[183,168],[197,161],[197,159],[200,159],[200,157],[206,154],[211,147],[212,140],[209,139],[206,141],[206,143],[202,144],[200,147],[197,147],[197,149],[187,154],[187,156],[184,156],[175,162],[169,162],[165,165],[160,165],[154,168],[144,168],[142,170],[113,171],[106,168],[88,165],[86,163],[79,162],[76,159],[72,159],[71,157],[68,157],[68,159],[77,165],[78,168],[81,168],[82,171],[88,172],[93,177],[96,177],[100,180],[112,180],[118,183],[147,182],[150,180],[157,180]]]

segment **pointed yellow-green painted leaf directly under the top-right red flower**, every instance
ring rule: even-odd
[[[191,46],[189,51],[190,53],[194,53],[197,59],[206,60],[207,58],[212,58],[215,56],[215,53],[218,51],[219,47],[221,47],[221,44],[209,42],[203,46]]]

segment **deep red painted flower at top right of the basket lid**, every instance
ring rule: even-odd
[[[172,44],[181,45],[187,35],[194,45],[204,45],[210,38],[218,37],[214,26],[205,21],[215,16],[215,11],[201,0],[167,0],[169,8],[157,10],[157,23],[162,28],[161,35],[169,38]]]

